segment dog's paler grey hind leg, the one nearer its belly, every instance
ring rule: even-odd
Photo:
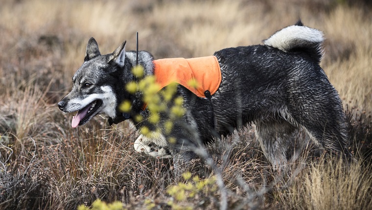
[[[295,149],[294,145],[298,129],[281,117],[258,120],[255,130],[262,151],[274,169],[284,169],[291,155],[297,156],[299,149]],[[303,144],[297,145],[300,147]]]

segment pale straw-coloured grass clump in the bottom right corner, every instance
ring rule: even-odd
[[[370,209],[371,168],[325,158],[312,163],[279,199],[285,209]]]

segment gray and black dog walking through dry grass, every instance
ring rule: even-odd
[[[165,114],[157,124],[148,122],[142,110],[142,93],[129,93],[125,85],[138,80],[132,73],[136,52],[125,51],[125,43],[113,53],[101,55],[97,42],[88,42],[84,63],[73,76],[71,92],[58,103],[65,113],[78,111],[72,126],[82,126],[99,114],[111,124],[141,115],[137,129],[147,126],[161,133],[147,139],[171,152],[175,168],[196,157],[195,148],[231,134],[235,128],[256,125],[256,137],[275,167],[290,156],[287,148],[303,129],[317,145],[351,159],[346,117],[342,102],[320,67],[324,35],[299,21],[285,27],[263,44],[226,48],[214,53],[222,81],[209,98],[202,98],[178,85],[175,97],[184,98],[186,110],[171,132],[164,131]],[[153,56],[140,51],[138,64],[144,76],[153,75]],[[131,102],[131,111],[119,105]],[[175,142],[168,140],[172,137]],[[306,143],[302,143],[306,144]]]

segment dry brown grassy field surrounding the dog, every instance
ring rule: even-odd
[[[368,0],[3,0],[0,16],[0,209],[372,209]],[[127,123],[72,128],[56,106],[91,37],[106,54],[124,40],[135,50],[138,31],[155,59],[191,58],[259,44],[300,18],[325,33],[321,66],[343,100],[353,165],[309,148],[279,173],[248,126],[177,179],[171,160],[134,151]]]

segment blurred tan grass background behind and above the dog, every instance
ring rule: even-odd
[[[0,88],[48,87],[56,103],[71,87],[94,37],[111,53],[127,40],[155,59],[208,56],[259,44],[299,19],[324,31],[322,67],[343,100],[372,109],[372,12],[368,0],[4,0],[0,8]]]

